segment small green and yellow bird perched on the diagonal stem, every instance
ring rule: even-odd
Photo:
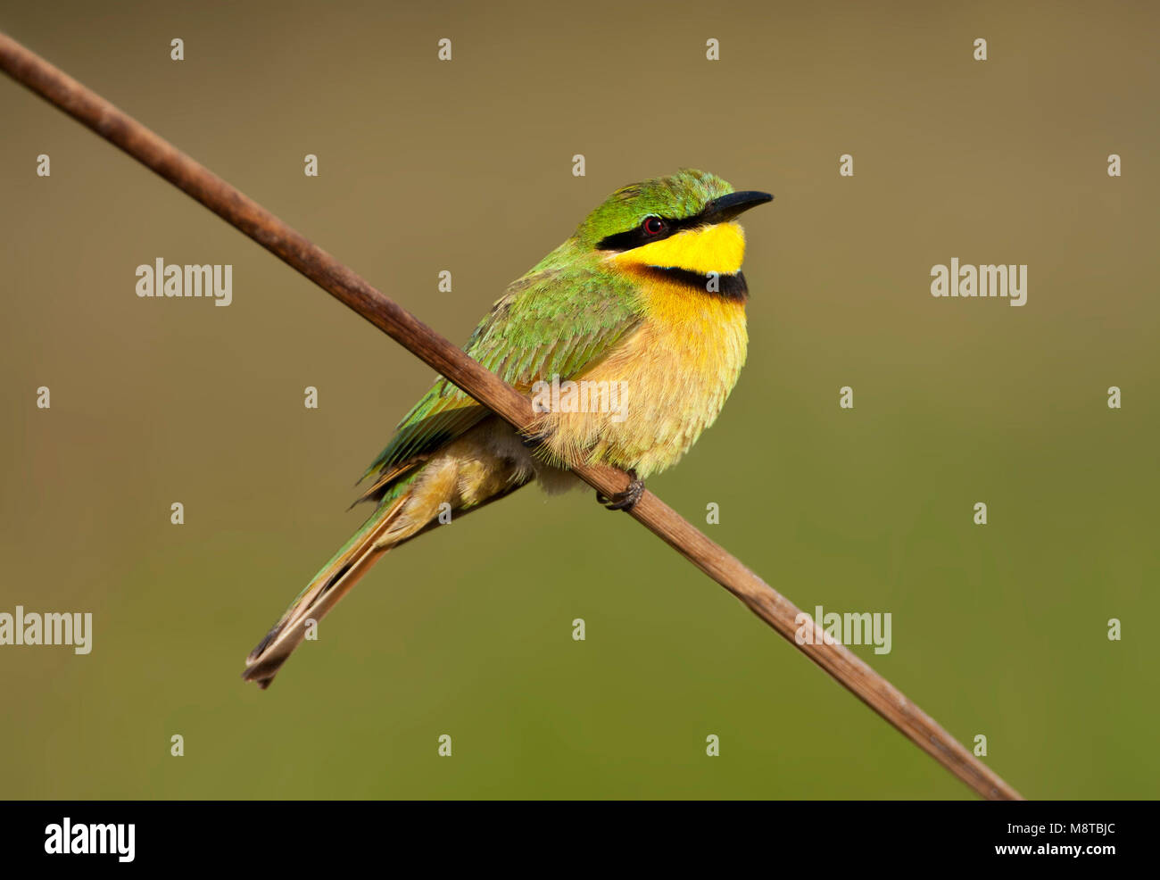
[[[629,489],[603,500],[635,504],[643,481],[676,463],[737,383],[748,296],[737,217],[771,199],[695,169],[633,183],[513,282],[465,351],[532,399],[532,430],[521,435],[440,377],[363,475],[375,476],[360,499],[375,513],[251,651],[242,677],[269,686],[307,621],[448,513],[532,479],[550,492],[578,485],[568,470],[582,462],[628,470]]]

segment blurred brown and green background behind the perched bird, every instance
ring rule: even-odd
[[[651,488],[719,504],[704,528],[800,607],[890,612],[893,651],[855,650],[1023,794],[1155,798],[1160,13],[931,7],[5,3],[0,29],[459,342],[618,186],[775,193],[748,366]],[[587,491],[392,553],[245,685],[430,370],[6,79],[0,118],[0,611],[95,628],[88,656],[0,648],[0,796],[970,796]],[[233,304],[137,298],[158,257],[232,264]],[[933,298],[951,257],[1028,264],[1028,304]]]

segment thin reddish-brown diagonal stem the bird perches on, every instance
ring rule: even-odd
[[[522,430],[531,423],[531,404],[523,395],[222,178],[5,34],[0,34],[0,68],[245,232],[514,427]],[[606,496],[629,483],[628,475],[614,468],[583,467],[575,473]],[[645,492],[631,514],[978,794],[993,800],[1020,799],[890,681],[846,647],[822,639],[809,618],[805,635],[817,637],[798,644],[795,633],[800,612],[793,603],[657,496]]]

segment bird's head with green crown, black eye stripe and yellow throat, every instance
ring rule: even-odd
[[[745,257],[738,215],[771,199],[735,193],[715,174],[686,168],[617,189],[580,224],[575,238],[624,268],[732,275]]]

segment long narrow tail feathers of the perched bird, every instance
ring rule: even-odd
[[[241,677],[266,690],[306,636],[306,622],[319,621],[346,596],[378,558],[391,549],[383,538],[398,519],[409,493],[377,511],[306,585],[282,619],[246,657]]]

